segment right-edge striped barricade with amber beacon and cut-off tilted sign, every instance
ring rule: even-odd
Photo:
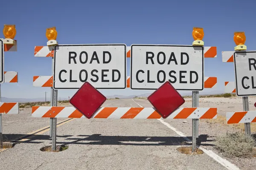
[[[255,111],[249,111],[248,96],[256,96],[256,91],[253,89],[253,75],[256,75],[255,62],[256,51],[246,51],[244,45],[246,38],[244,32],[234,33],[234,42],[236,43],[235,51],[222,51],[222,62],[234,62],[235,82],[225,82],[226,93],[236,93],[237,96],[242,96],[243,112],[228,112],[226,114],[227,124],[244,123],[245,133],[251,134],[250,123],[256,122]],[[251,68],[253,66],[253,68]],[[254,71],[254,72],[253,72]],[[256,79],[256,77],[254,77]],[[243,85],[244,79],[247,79],[246,86]],[[252,82],[249,82],[251,79]],[[247,85],[247,84],[250,84]],[[256,87],[256,86],[255,86]],[[254,114],[254,115],[253,115]]]

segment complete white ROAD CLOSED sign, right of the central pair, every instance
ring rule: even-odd
[[[204,48],[189,45],[131,45],[131,89],[204,89]]]

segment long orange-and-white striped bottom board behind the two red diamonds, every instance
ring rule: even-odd
[[[86,118],[74,107],[33,106],[32,117]],[[154,108],[101,107],[92,116],[101,119],[160,119]],[[217,108],[178,108],[166,119],[216,119]]]

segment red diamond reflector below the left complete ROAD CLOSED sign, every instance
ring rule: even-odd
[[[70,99],[70,104],[90,119],[106,99],[107,98],[89,82],[85,82]]]

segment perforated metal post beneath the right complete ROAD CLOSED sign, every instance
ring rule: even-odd
[[[192,108],[199,107],[199,92],[192,91]],[[192,152],[196,150],[196,138],[198,137],[198,119],[192,119]]]

